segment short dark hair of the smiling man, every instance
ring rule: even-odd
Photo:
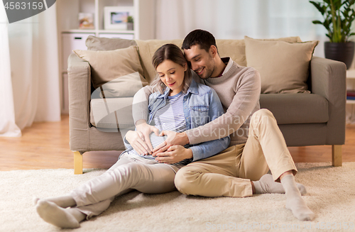
[[[184,42],[182,42],[181,48],[190,49],[192,45],[200,45],[200,48],[206,50],[207,53],[209,52],[211,45],[214,45],[217,48],[214,36],[208,31],[201,29],[196,29],[195,31],[191,31],[188,35],[186,35]]]

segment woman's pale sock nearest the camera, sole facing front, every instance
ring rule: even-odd
[[[35,209],[41,219],[51,223],[54,226],[58,226],[60,228],[80,227],[79,221],[75,219],[75,216],[70,214],[67,209],[63,209],[53,202],[39,200],[37,201]]]

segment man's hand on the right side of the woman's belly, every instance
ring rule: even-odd
[[[153,150],[153,156],[158,153],[163,153],[165,150],[168,150],[172,145],[185,145],[190,143],[189,138],[185,132],[177,133],[174,131],[162,131],[159,136],[168,136],[163,143],[160,143]]]

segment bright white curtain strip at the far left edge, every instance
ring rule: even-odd
[[[0,136],[20,137],[21,130],[15,123],[8,24],[4,5],[0,4]]]

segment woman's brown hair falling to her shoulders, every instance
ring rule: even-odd
[[[164,60],[171,60],[178,65],[181,65],[184,67],[184,65],[187,65],[187,61],[185,59],[184,54],[182,53],[182,50],[180,48],[172,43],[165,44],[158,48],[158,50],[155,51],[152,62],[153,66],[156,70],[158,65],[160,65]],[[156,75],[155,79],[151,83],[151,86],[153,86],[153,92],[160,92],[160,94],[163,94],[165,91],[165,84],[161,81],[160,77],[158,74]],[[187,70],[184,72],[184,81],[182,82],[182,92],[186,93],[187,89],[189,89],[190,84],[192,80],[192,74],[190,71],[190,68],[187,65]]]

